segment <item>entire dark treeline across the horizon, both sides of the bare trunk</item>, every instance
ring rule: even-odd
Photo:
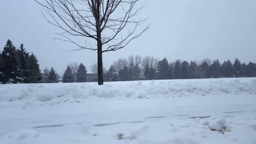
[[[45,67],[43,73],[39,69],[36,56],[26,52],[24,45],[16,47],[10,40],[6,42],[0,52],[0,84],[17,83],[57,83],[57,82],[92,82],[97,80],[97,64],[92,64],[92,72],[87,74],[86,67],[72,62],[67,65],[64,74],[60,76],[52,67]],[[222,64],[217,60],[205,58],[200,62],[183,61],[177,59],[158,60],[152,56],[130,55],[128,59],[119,58],[108,70],[104,69],[104,81],[132,81],[132,80],[165,80],[165,79],[195,79],[195,78],[232,78],[256,77],[256,64],[241,63],[238,58],[232,63],[230,60]]]

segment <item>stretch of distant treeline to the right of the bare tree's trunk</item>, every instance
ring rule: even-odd
[[[177,59],[168,63],[164,58],[146,56],[129,56],[128,59],[120,58],[115,61],[104,74],[105,81],[130,81],[130,80],[165,80],[165,79],[198,79],[198,78],[240,78],[256,77],[256,64],[241,63],[238,58],[232,62],[219,60],[181,61]]]

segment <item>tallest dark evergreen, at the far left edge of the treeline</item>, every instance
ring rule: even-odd
[[[1,54],[1,77],[2,82],[4,84],[11,84],[11,83],[20,83],[23,82],[23,79],[20,77],[22,75],[21,68],[20,68],[20,61],[18,58],[18,54],[16,51],[16,47],[13,46],[11,40],[7,40],[4,50]]]

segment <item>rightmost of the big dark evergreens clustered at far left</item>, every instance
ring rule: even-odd
[[[25,78],[26,83],[40,83],[42,80],[41,70],[38,60],[32,53],[28,59],[28,76]]]

